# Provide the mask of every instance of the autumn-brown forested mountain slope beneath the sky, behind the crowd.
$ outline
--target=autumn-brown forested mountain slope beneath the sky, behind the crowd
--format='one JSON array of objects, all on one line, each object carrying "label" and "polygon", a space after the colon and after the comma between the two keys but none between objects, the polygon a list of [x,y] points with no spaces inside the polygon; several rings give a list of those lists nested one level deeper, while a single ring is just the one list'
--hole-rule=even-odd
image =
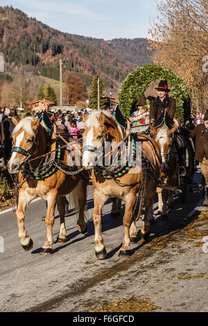
[{"label": "autumn-brown forested mountain slope beneath the sky, behind the crowd", "polygon": [[130,71],[150,62],[146,51],[144,39],[104,41],[71,35],[21,10],[0,7],[0,52],[8,71],[13,65],[31,65],[39,74],[58,79],[61,58],[63,72],[75,71],[88,81],[99,73],[108,87],[118,87]]}]

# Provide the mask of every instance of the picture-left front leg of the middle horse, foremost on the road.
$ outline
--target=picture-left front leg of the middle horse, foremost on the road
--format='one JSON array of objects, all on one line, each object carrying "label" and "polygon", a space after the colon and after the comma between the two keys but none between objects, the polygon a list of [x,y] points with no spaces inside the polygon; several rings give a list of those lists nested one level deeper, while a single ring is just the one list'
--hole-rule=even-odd
[{"label": "picture-left front leg of the middle horse, foremost on the road", "polygon": [[99,194],[96,189],[94,190],[94,212],[93,212],[93,223],[94,223],[94,243],[95,243],[95,253],[98,259],[104,259],[106,256],[106,249],[103,242],[102,234],[101,234],[101,221],[102,221],[102,210],[105,202],[107,200],[107,196]]}]

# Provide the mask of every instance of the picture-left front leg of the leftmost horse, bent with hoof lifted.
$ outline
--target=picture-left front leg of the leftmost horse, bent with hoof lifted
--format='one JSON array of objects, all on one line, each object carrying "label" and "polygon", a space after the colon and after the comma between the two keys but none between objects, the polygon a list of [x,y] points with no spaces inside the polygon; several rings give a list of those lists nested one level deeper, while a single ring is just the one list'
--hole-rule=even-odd
[{"label": "picture-left front leg of the leftmost horse, bent with hoof lifted", "polygon": [[26,251],[31,250],[33,248],[33,240],[31,239],[31,237],[28,236],[24,228],[25,210],[26,207],[28,207],[28,204],[34,198],[37,198],[37,195],[28,194],[26,191],[24,191],[24,189],[19,190],[16,218],[17,218],[17,224],[19,228],[19,238],[20,238],[21,246]]}]

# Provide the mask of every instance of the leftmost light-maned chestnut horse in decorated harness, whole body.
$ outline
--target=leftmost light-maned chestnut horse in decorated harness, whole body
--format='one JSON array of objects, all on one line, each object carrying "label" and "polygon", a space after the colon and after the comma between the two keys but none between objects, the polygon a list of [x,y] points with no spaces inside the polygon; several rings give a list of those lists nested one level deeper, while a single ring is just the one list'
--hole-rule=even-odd
[{"label": "leftmost light-maned chestnut horse in decorated harness, whole body", "polygon": [[[13,147],[12,155],[8,161],[8,171],[10,173],[17,173],[17,181],[19,183],[17,210],[15,214],[21,246],[26,251],[33,248],[33,240],[27,234],[24,227],[25,211],[28,204],[31,203],[31,200],[40,197],[46,200],[47,207],[45,218],[47,234],[40,254],[50,255],[53,252],[52,232],[56,204],[60,214],[58,242],[64,243],[66,241],[64,195],[70,193],[72,195],[71,197],[76,199],[78,205],[78,230],[82,233],[85,233],[87,230],[85,205],[87,202],[88,178],[85,173],[86,171],[84,171],[85,178],[79,178],[77,174],[73,175],[70,172],[66,174],[60,171],[57,164],[55,166],[49,164],[48,166],[47,162],[50,162],[51,155],[54,155],[54,153],[49,155],[49,160],[47,161],[45,155],[47,153],[46,130],[41,126],[38,118],[26,117],[22,120],[13,118],[12,121],[15,123],[15,128],[12,132]],[[69,163],[69,154],[72,153],[72,150],[68,153],[65,148],[61,148],[59,151],[55,151],[55,153],[55,160],[61,160],[60,162],[66,165],[67,162]],[[43,157],[44,163],[42,164]],[[51,162],[55,164],[54,160]],[[29,164],[30,171],[37,171],[40,166],[42,169],[45,169],[44,166],[48,166],[48,171],[42,177],[34,177],[34,175],[30,174],[24,175],[26,164]]]}]

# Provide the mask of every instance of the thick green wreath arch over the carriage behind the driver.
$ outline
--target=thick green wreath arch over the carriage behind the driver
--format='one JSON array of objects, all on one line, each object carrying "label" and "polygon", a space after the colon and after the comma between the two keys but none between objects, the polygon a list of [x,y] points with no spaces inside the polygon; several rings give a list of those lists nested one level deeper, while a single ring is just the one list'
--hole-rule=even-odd
[{"label": "thick green wreath arch over the carriage behind the driver", "polygon": [[131,110],[137,110],[137,103],[144,96],[148,85],[159,78],[168,81],[172,97],[176,101],[175,117],[183,123],[190,117],[190,96],[184,81],[173,71],[156,65],[138,67],[128,74],[119,92],[119,107],[124,117],[129,117]]}]

